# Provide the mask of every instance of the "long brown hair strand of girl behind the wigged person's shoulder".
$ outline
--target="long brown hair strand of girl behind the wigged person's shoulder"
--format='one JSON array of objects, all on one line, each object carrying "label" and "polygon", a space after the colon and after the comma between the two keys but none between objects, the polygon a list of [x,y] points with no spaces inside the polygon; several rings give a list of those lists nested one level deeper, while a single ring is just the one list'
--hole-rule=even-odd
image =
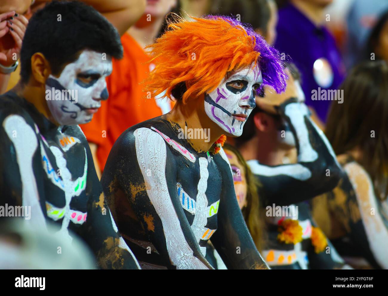
[{"label": "long brown hair strand of girl behind the wigged person's shoulder", "polygon": [[266,231],[265,221],[263,219],[264,210],[260,204],[258,194],[258,187],[260,187],[261,184],[258,179],[256,179],[256,177],[253,175],[253,173],[248,167],[248,164],[236,148],[227,143],[223,145],[223,148],[234,153],[237,156],[237,159],[241,163],[242,167],[244,168],[244,174],[247,184],[247,205],[246,207],[242,208],[241,212],[248,227],[248,230],[251,233],[256,248],[259,251],[262,251],[265,245]]}]

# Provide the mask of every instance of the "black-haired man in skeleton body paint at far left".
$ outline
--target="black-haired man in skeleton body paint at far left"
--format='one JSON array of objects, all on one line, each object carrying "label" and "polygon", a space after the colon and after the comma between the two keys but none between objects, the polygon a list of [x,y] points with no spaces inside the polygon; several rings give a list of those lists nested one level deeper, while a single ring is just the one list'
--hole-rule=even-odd
[{"label": "black-haired man in skeleton body paint at far left", "polygon": [[[70,44],[64,47],[63,38]],[[80,236],[100,268],[137,269],[77,126],[107,99],[112,56],[122,56],[120,37],[92,7],[52,2],[33,15],[21,50],[22,81],[0,96],[0,201],[30,207],[29,227],[55,223],[55,236]]]}]

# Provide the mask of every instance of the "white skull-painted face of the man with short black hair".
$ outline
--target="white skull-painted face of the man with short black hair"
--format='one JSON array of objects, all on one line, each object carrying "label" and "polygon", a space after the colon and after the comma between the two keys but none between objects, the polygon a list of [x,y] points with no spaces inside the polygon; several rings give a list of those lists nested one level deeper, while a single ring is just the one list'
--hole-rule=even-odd
[{"label": "white skull-painted face of the man with short black hair", "polygon": [[60,125],[90,122],[101,107],[100,101],[108,98],[105,77],[111,72],[110,59],[84,50],[58,78],[50,75],[46,80],[46,102],[54,119]]}]

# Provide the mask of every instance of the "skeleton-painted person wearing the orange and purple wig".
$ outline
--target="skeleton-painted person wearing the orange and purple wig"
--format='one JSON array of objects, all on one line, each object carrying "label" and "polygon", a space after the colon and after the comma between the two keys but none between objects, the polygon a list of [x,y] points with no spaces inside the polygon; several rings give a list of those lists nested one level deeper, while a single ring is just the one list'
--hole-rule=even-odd
[{"label": "skeleton-painted person wearing the orange and purple wig", "polygon": [[[262,83],[284,89],[279,53],[228,17],[178,19],[169,28],[151,46],[156,68],[147,87],[177,103],[121,134],[102,174],[119,231],[142,268],[211,269],[209,239],[228,268],[267,268],[225,153],[212,143],[242,133]],[[210,138],[182,138],[183,128],[209,129]]]}]

